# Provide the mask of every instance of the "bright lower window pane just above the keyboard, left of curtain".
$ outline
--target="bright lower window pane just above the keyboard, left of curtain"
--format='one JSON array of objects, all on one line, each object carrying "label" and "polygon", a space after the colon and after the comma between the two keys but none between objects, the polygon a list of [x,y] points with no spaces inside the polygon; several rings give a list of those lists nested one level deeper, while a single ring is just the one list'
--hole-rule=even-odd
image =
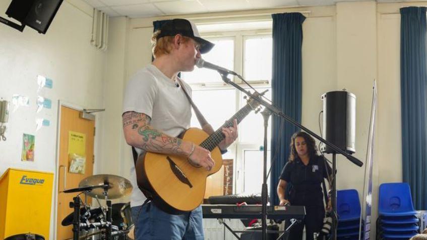
[{"label": "bright lower window pane just above the keyboard, left of curtain", "polygon": [[[245,150],[243,157],[243,171],[245,173],[243,193],[261,193],[264,175],[264,151]],[[270,151],[267,151],[267,173],[270,169],[270,158]],[[267,179],[267,184],[269,183],[270,177]]]}]

